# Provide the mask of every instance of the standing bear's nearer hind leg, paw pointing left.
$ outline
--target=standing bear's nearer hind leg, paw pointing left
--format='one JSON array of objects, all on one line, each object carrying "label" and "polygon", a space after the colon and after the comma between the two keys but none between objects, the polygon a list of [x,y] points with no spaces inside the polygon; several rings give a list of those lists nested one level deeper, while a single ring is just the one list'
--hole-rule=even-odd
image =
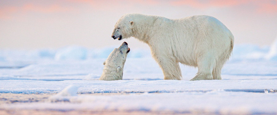
[{"label": "standing bear's nearer hind leg, paw pointing left", "polygon": [[213,79],[212,71],[213,67],[215,66],[215,59],[211,59],[209,56],[206,56],[206,58],[200,58],[197,62],[197,65],[198,72],[190,81]]}]

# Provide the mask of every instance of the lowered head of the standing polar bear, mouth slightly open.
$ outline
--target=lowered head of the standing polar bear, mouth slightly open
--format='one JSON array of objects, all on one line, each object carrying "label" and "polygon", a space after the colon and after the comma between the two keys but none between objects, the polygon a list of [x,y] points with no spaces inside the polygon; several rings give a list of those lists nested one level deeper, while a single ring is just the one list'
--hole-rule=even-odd
[{"label": "lowered head of the standing polar bear, mouth slightly open", "polygon": [[130,18],[130,14],[123,15],[114,25],[112,38],[122,40],[132,36],[132,28],[134,21]]}]

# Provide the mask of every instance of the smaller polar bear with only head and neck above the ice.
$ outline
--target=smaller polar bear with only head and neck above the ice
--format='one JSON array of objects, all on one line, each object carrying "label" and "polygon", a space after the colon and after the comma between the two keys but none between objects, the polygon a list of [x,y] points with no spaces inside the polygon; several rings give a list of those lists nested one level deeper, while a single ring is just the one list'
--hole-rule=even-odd
[{"label": "smaller polar bear with only head and neck above the ice", "polygon": [[129,52],[130,48],[128,48],[126,42],[123,42],[119,48],[114,48],[114,51],[110,53],[103,63],[105,66],[99,80],[122,80],[123,67]]}]

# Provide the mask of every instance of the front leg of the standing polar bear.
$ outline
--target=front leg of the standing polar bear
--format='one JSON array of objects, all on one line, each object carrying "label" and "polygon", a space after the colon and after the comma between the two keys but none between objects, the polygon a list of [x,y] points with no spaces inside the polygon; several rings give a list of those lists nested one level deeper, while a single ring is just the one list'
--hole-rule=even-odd
[{"label": "front leg of the standing polar bear", "polygon": [[165,80],[182,80],[182,72],[179,62],[169,58],[156,58],[159,66],[162,68]]}]

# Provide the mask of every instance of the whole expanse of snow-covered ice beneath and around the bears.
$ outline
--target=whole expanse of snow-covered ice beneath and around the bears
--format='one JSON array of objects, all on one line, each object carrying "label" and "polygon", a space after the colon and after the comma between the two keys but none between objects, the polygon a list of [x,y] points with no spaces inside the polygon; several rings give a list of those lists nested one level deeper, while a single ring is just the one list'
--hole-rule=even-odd
[{"label": "whole expanse of snow-covered ice beneath and around the bears", "polygon": [[[277,114],[276,44],[237,45],[222,70],[223,80],[201,81],[188,81],[197,68],[182,64],[183,80],[163,80],[147,49],[131,49],[118,81],[98,81],[114,47],[0,50],[0,111]],[[51,96],[6,103],[4,93]]]}]

